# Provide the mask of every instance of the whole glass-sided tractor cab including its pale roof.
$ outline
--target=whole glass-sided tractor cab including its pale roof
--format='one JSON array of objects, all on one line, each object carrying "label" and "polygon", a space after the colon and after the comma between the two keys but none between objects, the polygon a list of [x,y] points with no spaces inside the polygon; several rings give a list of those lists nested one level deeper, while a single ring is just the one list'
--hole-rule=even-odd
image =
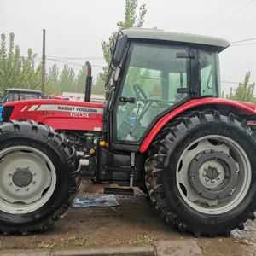
[{"label": "whole glass-sided tractor cab including its pale roof", "polygon": [[110,144],[136,148],[166,113],[191,99],[219,97],[218,53],[229,45],[157,29],[120,31],[106,83]]}]

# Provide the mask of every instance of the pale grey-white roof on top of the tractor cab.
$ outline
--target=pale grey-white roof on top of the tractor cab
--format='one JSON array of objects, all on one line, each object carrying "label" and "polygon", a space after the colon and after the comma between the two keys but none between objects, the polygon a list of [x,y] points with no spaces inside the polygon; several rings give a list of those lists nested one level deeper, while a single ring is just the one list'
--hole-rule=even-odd
[{"label": "pale grey-white roof on top of the tractor cab", "polygon": [[160,29],[147,29],[135,27],[124,29],[122,30],[122,32],[125,35],[127,35],[128,38],[162,40],[216,46],[218,47],[218,52],[221,52],[222,50],[230,46],[230,43],[223,38],[214,38],[182,32],[166,32]]}]

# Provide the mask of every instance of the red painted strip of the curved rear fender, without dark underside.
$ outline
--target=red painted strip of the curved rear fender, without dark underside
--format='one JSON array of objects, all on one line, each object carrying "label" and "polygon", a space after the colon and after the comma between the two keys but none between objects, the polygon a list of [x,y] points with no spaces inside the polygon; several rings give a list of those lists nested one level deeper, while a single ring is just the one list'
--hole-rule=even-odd
[{"label": "red painted strip of the curved rear fender, without dark underside", "polygon": [[171,113],[167,113],[166,116],[162,117],[156,125],[154,125],[153,129],[148,133],[148,136],[143,141],[140,152],[145,152],[149,146],[149,144],[153,141],[154,137],[158,134],[158,132],[169,122],[171,119],[175,118],[179,113],[183,113],[184,111],[188,110],[189,108],[195,108],[196,106],[201,105],[226,105],[227,108],[229,107],[236,107],[241,110],[242,113],[248,114],[256,114],[255,105],[250,102],[236,102],[230,101],[224,98],[205,98],[205,99],[196,99],[186,102],[179,108],[174,109]]}]

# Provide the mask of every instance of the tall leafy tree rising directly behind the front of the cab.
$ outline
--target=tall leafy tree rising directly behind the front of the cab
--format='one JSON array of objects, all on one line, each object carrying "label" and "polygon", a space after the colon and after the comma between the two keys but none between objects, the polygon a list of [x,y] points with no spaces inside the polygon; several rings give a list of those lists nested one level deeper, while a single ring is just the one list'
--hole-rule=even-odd
[{"label": "tall leafy tree rising directly behind the front of the cab", "polygon": [[113,44],[113,39],[121,29],[127,29],[131,27],[142,27],[145,15],[147,14],[146,4],[143,4],[139,7],[139,14],[137,17],[137,0],[125,0],[125,20],[119,21],[117,23],[118,30],[115,32],[112,32],[111,36],[108,38],[108,42],[102,40],[102,51],[104,55],[104,59],[107,63],[106,67],[103,67],[103,73],[100,73],[100,77],[103,81],[106,80],[107,74],[108,74],[108,66],[110,64],[110,52],[109,49],[111,45]]}]

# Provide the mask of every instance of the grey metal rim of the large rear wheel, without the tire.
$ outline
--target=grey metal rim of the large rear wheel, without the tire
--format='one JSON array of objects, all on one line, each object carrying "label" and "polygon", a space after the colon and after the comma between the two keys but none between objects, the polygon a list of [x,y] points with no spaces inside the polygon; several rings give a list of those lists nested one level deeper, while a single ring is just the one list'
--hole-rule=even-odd
[{"label": "grey metal rim of the large rear wheel, without the tire", "polygon": [[198,212],[222,214],[241,203],[251,184],[250,160],[230,137],[211,135],[190,143],[177,162],[177,188]]}]

